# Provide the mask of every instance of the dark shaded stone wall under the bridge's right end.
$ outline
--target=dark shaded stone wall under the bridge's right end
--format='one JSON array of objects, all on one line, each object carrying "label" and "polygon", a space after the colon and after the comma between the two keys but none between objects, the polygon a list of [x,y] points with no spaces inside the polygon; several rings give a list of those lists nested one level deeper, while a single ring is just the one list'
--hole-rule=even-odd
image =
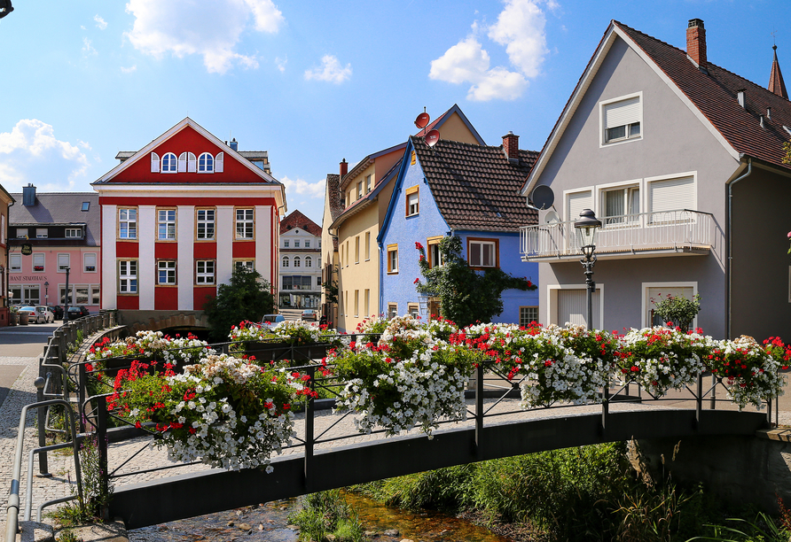
[{"label": "dark shaded stone wall under the bridge's right end", "polygon": [[751,503],[778,513],[777,497],[791,506],[791,430],[755,437],[686,437],[630,443],[634,468],[653,480],[702,482],[734,505]]}]

